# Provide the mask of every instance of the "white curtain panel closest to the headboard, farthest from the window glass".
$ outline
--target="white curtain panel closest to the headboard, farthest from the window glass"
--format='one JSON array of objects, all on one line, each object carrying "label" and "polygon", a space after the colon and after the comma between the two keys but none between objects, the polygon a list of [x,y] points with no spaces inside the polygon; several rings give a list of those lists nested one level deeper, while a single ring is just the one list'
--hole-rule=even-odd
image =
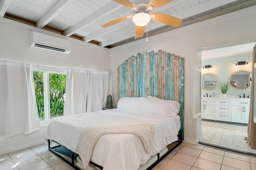
[{"label": "white curtain panel closest to the headboard, farthest from the window glass", "polygon": [[109,72],[88,71],[86,112],[102,110],[107,103]]}]

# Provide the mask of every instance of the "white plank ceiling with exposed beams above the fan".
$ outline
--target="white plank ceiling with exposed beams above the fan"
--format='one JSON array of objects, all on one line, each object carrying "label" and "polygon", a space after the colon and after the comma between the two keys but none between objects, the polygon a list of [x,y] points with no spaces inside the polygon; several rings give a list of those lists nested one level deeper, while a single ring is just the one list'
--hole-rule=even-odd
[{"label": "white plank ceiling with exposed beams above the fan", "polygon": [[[130,1],[134,4],[150,2]],[[173,0],[153,12],[183,20],[180,25],[182,27],[253,5],[256,5],[256,0]],[[107,48],[136,41],[132,18],[107,28],[101,27],[129,14],[129,8],[112,0],[0,0],[0,17],[53,30]],[[147,27],[148,36],[179,28],[154,20],[150,20]]]}]

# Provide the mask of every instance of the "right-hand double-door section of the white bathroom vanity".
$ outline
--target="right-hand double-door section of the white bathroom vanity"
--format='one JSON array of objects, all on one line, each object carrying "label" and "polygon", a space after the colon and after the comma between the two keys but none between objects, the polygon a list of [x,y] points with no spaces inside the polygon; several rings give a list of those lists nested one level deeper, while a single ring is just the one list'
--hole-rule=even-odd
[{"label": "right-hand double-door section of the white bathroom vanity", "polygon": [[232,101],[232,122],[248,123],[250,100]]}]

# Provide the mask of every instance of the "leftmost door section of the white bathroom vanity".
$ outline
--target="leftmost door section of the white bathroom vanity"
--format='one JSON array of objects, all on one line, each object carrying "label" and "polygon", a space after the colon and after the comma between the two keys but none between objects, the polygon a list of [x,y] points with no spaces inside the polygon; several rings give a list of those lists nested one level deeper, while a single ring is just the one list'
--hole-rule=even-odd
[{"label": "leftmost door section of the white bathroom vanity", "polygon": [[202,119],[215,120],[215,100],[202,99]]}]

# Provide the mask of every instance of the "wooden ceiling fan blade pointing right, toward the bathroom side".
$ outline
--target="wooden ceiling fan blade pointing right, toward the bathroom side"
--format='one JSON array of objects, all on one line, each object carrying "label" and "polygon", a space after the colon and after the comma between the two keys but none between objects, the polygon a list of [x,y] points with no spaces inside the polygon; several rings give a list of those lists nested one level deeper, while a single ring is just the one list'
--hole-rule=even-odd
[{"label": "wooden ceiling fan blade pointing right, toward the bathroom side", "polygon": [[174,26],[174,27],[178,27],[183,22],[183,20],[180,20],[176,17],[169,16],[169,15],[166,15],[166,14],[160,14],[160,13],[155,13],[155,12],[152,12],[151,14],[156,15],[155,18],[151,17],[152,20],[165,23],[166,25],[171,25],[171,26]]}]

